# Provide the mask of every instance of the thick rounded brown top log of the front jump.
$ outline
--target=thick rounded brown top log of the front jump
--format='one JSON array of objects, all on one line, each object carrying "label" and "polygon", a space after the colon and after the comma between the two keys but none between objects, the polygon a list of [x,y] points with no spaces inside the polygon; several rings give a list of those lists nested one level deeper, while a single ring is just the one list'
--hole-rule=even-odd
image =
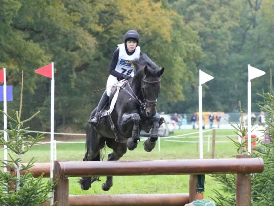
[{"label": "thick rounded brown top log of the front jump", "polygon": [[56,175],[62,177],[186,175],[218,173],[260,173],[262,159],[186,159],[152,161],[57,162]]}]

